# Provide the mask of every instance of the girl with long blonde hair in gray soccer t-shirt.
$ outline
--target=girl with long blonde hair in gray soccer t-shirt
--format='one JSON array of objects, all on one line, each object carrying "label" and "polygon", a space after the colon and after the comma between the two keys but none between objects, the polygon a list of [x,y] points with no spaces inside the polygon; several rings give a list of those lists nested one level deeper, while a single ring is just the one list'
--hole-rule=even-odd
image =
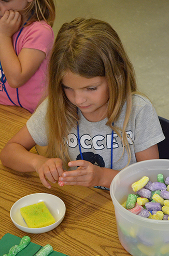
[{"label": "girl with long blonde hair in gray soccer t-shirt", "polygon": [[[159,158],[163,139],[116,31],[104,21],[77,18],[55,39],[49,96],[7,143],[1,160],[18,171],[36,171],[47,187],[59,180],[109,188],[125,166]],[[48,145],[46,156],[29,152],[35,144]]]}]

